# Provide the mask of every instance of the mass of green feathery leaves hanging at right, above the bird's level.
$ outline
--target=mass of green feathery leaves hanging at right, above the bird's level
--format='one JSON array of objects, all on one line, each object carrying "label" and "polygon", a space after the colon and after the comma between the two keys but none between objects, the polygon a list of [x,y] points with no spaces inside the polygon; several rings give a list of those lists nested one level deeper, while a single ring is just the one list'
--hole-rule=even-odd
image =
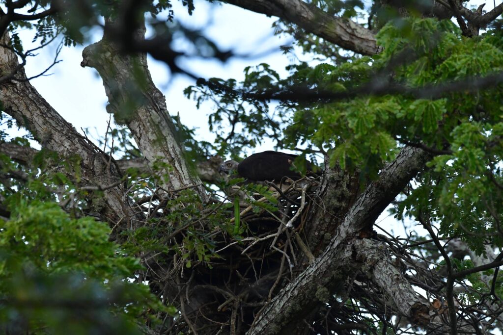
[{"label": "mass of green feathery leaves hanging at right, above the bird's level", "polygon": [[[431,163],[435,169],[417,181],[419,186],[400,204],[400,212],[403,206],[409,210],[414,207],[415,214],[430,212],[442,222],[446,236],[498,232],[503,210],[497,200],[503,184],[503,123],[499,117],[503,90],[497,83],[489,89],[471,87],[470,78],[503,70],[500,33],[466,38],[449,21],[409,19],[387,25],[377,38],[384,51],[373,57],[337,66],[301,64],[291,68],[292,75],[287,79],[280,79],[263,65],[253,72],[247,69],[240,85],[211,79],[188,88],[187,94],[196,94],[198,103],[205,99],[217,102],[210,117],[212,125],[221,127],[222,120],[232,120],[230,113],[234,113],[235,122],[251,138],[263,138],[269,129],[274,132],[269,137],[279,146],[304,145],[328,151],[331,164],[360,167],[370,178],[375,178],[383,162],[394,158],[404,144],[440,153]],[[459,80],[465,89],[442,92],[443,84]],[[282,118],[281,131],[277,121],[265,118],[268,100],[261,99],[265,91],[291,89],[302,94],[302,87],[306,92],[327,96],[326,92],[352,92],[375,82],[383,87],[382,94],[361,94],[351,99],[334,95],[319,102],[302,96],[280,100],[276,113]],[[418,99],[416,92],[431,85],[437,87],[439,97]],[[409,94],[386,93],[386,87],[396,86]],[[233,105],[241,109],[232,109]],[[236,147],[254,144],[239,141],[239,136],[230,132],[217,141],[225,140],[223,148],[232,144],[230,138],[236,138]],[[494,245],[501,243],[497,236],[497,241],[490,239]],[[469,240],[479,252],[489,242]]]}]

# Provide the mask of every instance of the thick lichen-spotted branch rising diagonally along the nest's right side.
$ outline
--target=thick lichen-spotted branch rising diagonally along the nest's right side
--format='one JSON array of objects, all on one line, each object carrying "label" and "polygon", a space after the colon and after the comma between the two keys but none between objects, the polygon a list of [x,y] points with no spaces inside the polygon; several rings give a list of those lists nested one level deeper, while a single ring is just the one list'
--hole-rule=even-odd
[{"label": "thick lichen-spotted branch rising diagonally along the nest's right side", "polygon": [[[383,168],[379,180],[372,182],[357,198],[325,251],[264,307],[248,333],[274,334],[287,323],[302,320],[301,315],[318,304],[316,292],[332,292],[338,283],[360,269],[365,261],[354,255],[359,233],[371,229],[379,214],[428,159],[429,155],[421,149],[403,148],[397,158]],[[403,312],[414,319],[418,316],[412,313],[419,310],[423,308]]]}]

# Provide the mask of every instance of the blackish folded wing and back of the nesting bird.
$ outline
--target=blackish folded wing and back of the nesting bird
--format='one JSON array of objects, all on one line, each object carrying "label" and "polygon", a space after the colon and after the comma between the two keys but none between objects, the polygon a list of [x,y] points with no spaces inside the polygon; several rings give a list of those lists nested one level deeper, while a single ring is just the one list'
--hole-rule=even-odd
[{"label": "blackish folded wing and back of the nesting bird", "polygon": [[239,176],[249,180],[276,180],[283,177],[299,179],[301,175],[293,171],[292,164],[297,155],[277,151],[264,151],[246,157],[237,166]]}]

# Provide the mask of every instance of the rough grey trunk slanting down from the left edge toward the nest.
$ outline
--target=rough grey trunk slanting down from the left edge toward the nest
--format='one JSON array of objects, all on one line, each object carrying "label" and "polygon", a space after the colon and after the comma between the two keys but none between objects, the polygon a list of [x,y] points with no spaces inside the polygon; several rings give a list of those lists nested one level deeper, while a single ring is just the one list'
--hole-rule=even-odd
[{"label": "rough grey trunk slanting down from the left edge toward the nest", "polygon": [[[2,37],[2,45],[9,45],[9,34]],[[10,48],[0,48],[0,72],[8,74],[19,65],[18,57]],[[20,80],[7,80],[0,84],[0,100],[5,112],[21,126],[28,129],[42,147],[61,156],[78,156],[81,159],[82,183],[107,186],[120,180],[121,175],[114,164],[94,144],[79,135],[38,91],[26,80],[23,68],[16,73]],[[144,215],[134,208],[126,196],[123,184],[107,188],[104,201],[95,201],[95,210],[102,219],[111,224],[122,222],[128,226],[143,221]]]}]

